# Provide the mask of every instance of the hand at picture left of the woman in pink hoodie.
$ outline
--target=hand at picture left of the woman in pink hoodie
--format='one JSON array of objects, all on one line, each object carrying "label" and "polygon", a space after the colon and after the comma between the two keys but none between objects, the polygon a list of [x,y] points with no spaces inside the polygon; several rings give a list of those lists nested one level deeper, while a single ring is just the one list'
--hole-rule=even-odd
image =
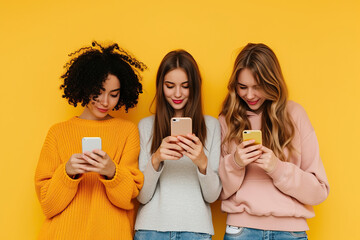
[{"label": "hand at picture left of the woman in pink hoodie", "polygon": [[235,161],[240,167],[245,167],[249,163],[256,161],[262,154],[262,145],[251,145],[255,140],[244,141],[236,147],[234,153]]}]

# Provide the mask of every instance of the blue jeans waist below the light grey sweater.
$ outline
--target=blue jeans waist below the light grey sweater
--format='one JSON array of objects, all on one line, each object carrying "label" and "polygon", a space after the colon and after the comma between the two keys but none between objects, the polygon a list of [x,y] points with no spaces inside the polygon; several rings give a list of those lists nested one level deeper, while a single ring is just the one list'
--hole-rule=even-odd
[{"label": "blue jeans waist below the light grey sweater", "polygon": [[211,240],[211,235],[196,232],[158,232],[152,230],[138,230],[134,240]]}]

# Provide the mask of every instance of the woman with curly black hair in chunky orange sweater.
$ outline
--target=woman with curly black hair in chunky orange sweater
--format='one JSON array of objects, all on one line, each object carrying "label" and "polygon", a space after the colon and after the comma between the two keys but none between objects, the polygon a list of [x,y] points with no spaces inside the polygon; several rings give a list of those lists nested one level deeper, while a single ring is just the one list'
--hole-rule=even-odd
[{"label": "woman with curly black hair in chunky orange sweater", "polygon": [[[84,111],[52,126],[35,174],[45,214],[39,239],[132,239],[134,203],[143,185],[136,125],[109,115],[137,104],[146,66],[113,44],[93,42],[65,65],[63,97]],[[102,149],[82,152],[83,137]]]}]

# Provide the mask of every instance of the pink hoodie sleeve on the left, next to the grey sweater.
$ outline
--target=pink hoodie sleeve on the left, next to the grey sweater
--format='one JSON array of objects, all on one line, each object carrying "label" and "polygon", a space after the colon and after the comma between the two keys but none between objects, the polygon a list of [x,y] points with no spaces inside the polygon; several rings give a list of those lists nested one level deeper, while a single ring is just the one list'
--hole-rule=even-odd
[{"label": "pink hoodie sleeve on the left, next to the grey sweater", "polygon": [[[221,126],[221,139],[222,142],[228,131],[225,117],[220,115],[219,122]],[[245,168],[236,164],[234,159],[234,153],[236,148],[231,149],[229,143],[222,144],[219,175],[222,182],[222,192],[220,198],[226,200],[235,194],[241,187],[245,177]]]}]

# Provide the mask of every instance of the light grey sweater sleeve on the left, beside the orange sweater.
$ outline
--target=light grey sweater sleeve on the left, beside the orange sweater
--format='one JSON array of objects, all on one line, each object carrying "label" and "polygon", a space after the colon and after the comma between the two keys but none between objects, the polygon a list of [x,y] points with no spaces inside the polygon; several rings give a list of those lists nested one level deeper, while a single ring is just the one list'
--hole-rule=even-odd
[{"label": "light grey sweater sleeve on the left, beside the orange sweater", "polygon": [[155,193],[156,185],[159,177],[163,171],[163,163],[160,164],[159,171],[156,171],[151,163],[151,131],[152,121],[151,118],[145,118],[139,122],[140,132],[140,155],[139,155],[139,168],[144,173],[144,186],[141,189],[138,201],[146,204],[151,200]]}]

